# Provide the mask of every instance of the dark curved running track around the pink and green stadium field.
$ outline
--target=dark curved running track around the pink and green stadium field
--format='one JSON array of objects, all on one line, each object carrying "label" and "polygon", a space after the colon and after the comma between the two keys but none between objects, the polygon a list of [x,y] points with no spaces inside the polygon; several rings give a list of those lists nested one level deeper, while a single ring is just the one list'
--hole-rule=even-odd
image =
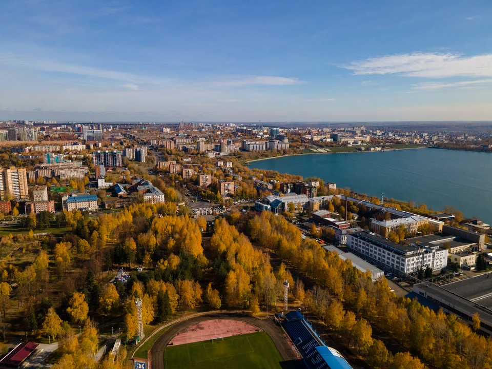
[{"label": "dark curved running track around the pink and green stadium field", "polygon": [[163,333],[162,336],[160,336],[152,346],[152,349],[150,351],[152,369],[164,369],[164,350],[166,349],[168,342],[179,331],[185,329],[189,325],[196,324],[204,320],[220,318],[240,320],[257,326],[259,329],[263,330],[270,336],[273,343],[277,347],[278,352],[282,356],[282,359],[286,361],[286,365],[282,366],[283,368],[294,369],[302,367],[302,364],[297,360],[294,352],[292,351],[291,346],[287,343],[285,335],[281,333],[273,320],[262,320],[251,315],[241,313],[217,313],[201,315],[199,317],[191,318],[190,320],[185,320],[171,326],[170,329]]}]

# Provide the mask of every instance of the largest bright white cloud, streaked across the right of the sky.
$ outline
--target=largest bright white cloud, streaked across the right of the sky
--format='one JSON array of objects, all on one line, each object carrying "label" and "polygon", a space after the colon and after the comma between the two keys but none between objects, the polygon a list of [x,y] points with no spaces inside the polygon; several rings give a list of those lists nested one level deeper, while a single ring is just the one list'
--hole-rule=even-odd
[{"label": "largest bright white cloud, streaked across the right of the sky", "polygon": [[408,77],[492,77],[492,54],[395,54],[353,61],[342,68],[356,75],[397,74]]}]

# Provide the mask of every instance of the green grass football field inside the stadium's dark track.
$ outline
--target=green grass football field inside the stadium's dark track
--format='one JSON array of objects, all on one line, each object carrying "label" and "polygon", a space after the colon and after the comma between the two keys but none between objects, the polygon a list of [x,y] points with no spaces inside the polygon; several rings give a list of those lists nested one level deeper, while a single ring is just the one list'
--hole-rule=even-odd
[{"label": "green grass football field inside the stadium's dark track", "polygon": [[168,346],[164,352],[166,369],[281,369],[280,356],[264,332]]}]

